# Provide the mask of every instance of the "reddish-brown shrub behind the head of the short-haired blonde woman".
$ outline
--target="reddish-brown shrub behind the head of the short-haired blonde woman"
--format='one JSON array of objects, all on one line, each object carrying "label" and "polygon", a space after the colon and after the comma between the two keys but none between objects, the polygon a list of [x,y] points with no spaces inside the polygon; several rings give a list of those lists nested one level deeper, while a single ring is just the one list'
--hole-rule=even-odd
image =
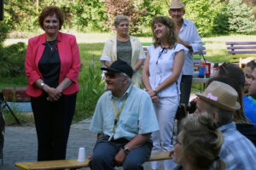
[{"label": "reddish-brown shrub behind the head of the short-haired blonde woman", "polygon": [[141,4],[136,6],[134,3],[134,0],[105,0],[104,5],[108,15],[106,26],[114,30],[114,17],[123,14],[130,19],[130,33],[141,32],[139,26],[143,25],[143,16],[148,14],[147,8],[140,8]]}]

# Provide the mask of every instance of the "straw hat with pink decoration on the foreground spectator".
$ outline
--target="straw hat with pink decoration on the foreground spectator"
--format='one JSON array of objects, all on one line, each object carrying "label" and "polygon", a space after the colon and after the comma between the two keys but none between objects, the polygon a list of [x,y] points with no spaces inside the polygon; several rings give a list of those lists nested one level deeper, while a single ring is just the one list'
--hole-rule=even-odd
[{"label": "straw hat with pink decoration on the foreground spectator", "polygon": [[224,82],[214,81],[205,89],[203,94],[196,94],[200,99],[227,111],[240,109],[237,102],[236,90]]}]

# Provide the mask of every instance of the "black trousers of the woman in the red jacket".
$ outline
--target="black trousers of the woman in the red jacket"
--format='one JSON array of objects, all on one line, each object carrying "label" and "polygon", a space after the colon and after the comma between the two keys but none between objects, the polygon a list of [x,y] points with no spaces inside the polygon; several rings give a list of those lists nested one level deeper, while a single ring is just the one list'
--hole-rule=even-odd
[{"label": "black trousers of the woman in the red jacket", "polygon": [[77,94],[63,95],[50,102],[43,93],[32,98],[32,111],[38,134],[38,161],[66,159],[67,139]]}]

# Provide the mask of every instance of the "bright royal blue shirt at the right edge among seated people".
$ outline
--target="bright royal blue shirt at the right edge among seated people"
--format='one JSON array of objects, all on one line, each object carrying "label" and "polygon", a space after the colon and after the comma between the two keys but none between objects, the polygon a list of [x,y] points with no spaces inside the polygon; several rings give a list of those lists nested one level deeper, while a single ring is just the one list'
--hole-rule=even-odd
[{"label": "bright royal blue shirt at the right edge among seated people", "polygon": [[242,97],[243,111],[245,116],[254,124],[256,127],[256,105],[253,104],[251,99],[245,95]]}]

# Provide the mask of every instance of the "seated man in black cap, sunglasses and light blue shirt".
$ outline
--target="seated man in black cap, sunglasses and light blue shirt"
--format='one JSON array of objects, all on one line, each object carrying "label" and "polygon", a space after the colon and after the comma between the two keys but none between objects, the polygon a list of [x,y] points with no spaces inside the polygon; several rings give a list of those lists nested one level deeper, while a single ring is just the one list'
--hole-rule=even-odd
[{"label": "seated man in black cap, sunglasses and light blue shirt", "polygon": [[159,130],[148,94],[131,85],[131,66],[116,60],[105,73],[107,92],[102,94],[90,124],[97,141],[90,161],[96,170],[143,169],[151,154],[152,132]]}]

